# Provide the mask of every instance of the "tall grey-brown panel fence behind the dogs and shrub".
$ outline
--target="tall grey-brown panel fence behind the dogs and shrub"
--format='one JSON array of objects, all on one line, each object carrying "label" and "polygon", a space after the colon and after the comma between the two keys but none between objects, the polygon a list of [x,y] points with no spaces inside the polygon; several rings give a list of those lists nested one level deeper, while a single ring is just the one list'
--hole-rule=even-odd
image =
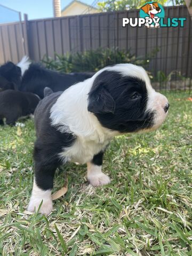
[{"label": "tall grey-brown panel fence behind the dogs and shrub", "polygon": [[[184,28],[122,27],[122,18],[139,17],[140,10],[39,19],[0,25],[0,64],[17,63],[23,55],[39,61],[44,55],[96,50],[130,50],[136,57],[151,57],[148,69],[157,75],[178,70],[192,76],[192,21],[186,6],[165,7],[165,17],[186,17]],[[24,38],[24,43],[23,43]]]}]

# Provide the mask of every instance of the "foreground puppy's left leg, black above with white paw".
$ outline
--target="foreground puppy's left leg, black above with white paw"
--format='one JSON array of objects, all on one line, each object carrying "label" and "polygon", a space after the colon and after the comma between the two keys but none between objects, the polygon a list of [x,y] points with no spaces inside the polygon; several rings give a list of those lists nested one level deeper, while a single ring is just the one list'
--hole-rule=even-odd
[{"label": "foreground puppy's left leg, black above with white paw", "polygon": [[[46,148],[46,146],[45,146]],[[46,149],[45,149],[46,150]],[[45,150],[35,148],[35,177],[32,195],[28,205],[28,211],[49,214],[52,211],[51,190],[53,188],[53,178],[59,162],[52,155],[47,155]],[[54,154],[54,153],[52,153]]]}]

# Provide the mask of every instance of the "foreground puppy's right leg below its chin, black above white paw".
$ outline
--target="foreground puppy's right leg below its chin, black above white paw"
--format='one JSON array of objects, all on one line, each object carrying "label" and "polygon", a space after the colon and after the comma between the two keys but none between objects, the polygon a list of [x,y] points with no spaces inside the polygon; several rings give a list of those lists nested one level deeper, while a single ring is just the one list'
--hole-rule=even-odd
[{"label": "foreground puppy's right leg below its chin, black above white paw", "polygon": [[92,186],[106,185],[110,178],[101,171],[103,152],[95,155],[91,162],[87,163],[87,180]]}]

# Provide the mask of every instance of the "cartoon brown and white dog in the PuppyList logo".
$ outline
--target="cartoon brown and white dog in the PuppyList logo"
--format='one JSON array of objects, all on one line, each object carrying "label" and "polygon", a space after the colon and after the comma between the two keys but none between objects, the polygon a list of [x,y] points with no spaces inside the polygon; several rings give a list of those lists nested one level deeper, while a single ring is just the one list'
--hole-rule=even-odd
[{"label": "cartoon brown and white dog in the PuppyList logo", "polygon": [[[151,19],[157,19],[158,17],[155,15],[159,12],[161,12],[161,8],[158,6],[158,3],[148,3],[148,4],[145,4],[141,7],[141,10],[143,10],[145,13],[147,13],[149,15],[149,17],[146,17],[146,20],[151,18]],[[159,23],[156,22],[155,25],[154,24],[150,24],[148,22],[146,22],[145,26],[147,28],[149,27],[159,27]]]}]

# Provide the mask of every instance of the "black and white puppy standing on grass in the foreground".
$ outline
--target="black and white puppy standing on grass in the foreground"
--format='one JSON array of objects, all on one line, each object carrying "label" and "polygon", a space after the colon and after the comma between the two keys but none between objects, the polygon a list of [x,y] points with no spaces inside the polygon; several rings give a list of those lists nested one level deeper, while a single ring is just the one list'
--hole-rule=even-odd
[{"label": "black and white puppy standing on grass in the foreground", "polygon": [[35,178],[28,211],[37,210],[42,201],[39,212],[52,211],[53,177],[63,163],[87,163],[93,186],[109,183],[101,166],[110,140],[117,134],[157,129],[168,109],[166,97],[151,87],[146,71],[132,64],[103,68],[45,97],[35,110]]}]

